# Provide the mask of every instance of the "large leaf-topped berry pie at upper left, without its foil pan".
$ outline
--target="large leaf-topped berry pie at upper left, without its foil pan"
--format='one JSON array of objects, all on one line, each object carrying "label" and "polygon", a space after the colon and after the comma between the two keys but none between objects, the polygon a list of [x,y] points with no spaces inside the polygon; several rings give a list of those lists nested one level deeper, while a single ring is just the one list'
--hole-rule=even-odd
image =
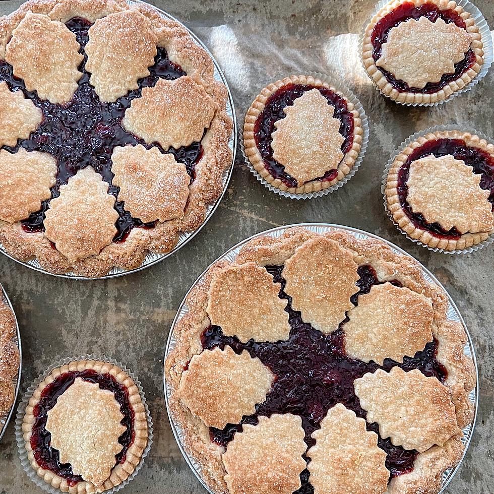
[{"label": "large leaf-topped berry pie at upper left, without its foil pan", "polygon": [[146,4],[30,0],[0,18],[4,249],[87,277],[169,252],[223,191],[227,97]]}]

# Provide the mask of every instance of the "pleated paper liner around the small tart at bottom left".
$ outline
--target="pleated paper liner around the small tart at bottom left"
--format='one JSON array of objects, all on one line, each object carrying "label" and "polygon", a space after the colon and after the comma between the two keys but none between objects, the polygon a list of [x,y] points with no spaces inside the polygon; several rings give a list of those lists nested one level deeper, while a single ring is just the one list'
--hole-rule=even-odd
[{"label": "pleated paper liner around the small tart at bottom left", "polygon": [[144,405],[144,410],[146,412],[146,418],[148,421],[148,444],[146,448],[143,451],[143,454],[141,456],[141,460],[139,461],[139,464],[136,466],[135,470],[132,472],[129,477],[127,477],[125,480],[123,480],[121,483],[116,485],[115,487],[103,491],[104,494],[111,494],[112,492],[116,492],[117,490],[120,490],[121,488],[125,487],[139,472],[141,469],[144,459],[149,453],[149,450],[151,449],[151,445],[153,444],[153,421],[151,420],[151,414],[149,413],[149,408],[146,403],[146,398],[144,397],[144,391],[141,386],[141,382],[139,379],[137,379],[136,375],[131,372],[125,365],[122,365],[120,362],[113,360],[112,358],[108,357],[103,357],[99,355],[81,355],[79,357],[66,357],[64,359],[60,359],[57,362],[51,364],[43,374],[40,374],[29,386],[27,391],[24,393],[24,396],[22,397],[22,401],[19,404],[19,408],[17,409],[17,417],[16,417],[16,441],[17,441],[17,449],[19,451],[19,457],[21,459],[21,465],[26,472],[27,476],[38,486],[41,487],[43,490],[46,490],[47,492],[51,492],[51,494],[60,494],[62,492],[60,489],[57,489],[53,487],[51,484],[47,483],[45,480],[43,480],[37,473],[36,471],[31,467],[31,463],[28,459],[27,456],[27,451],[25,444],[26,442],[24,441],[23,438],[23,431],[22,431],[22,422],[24,420],[24,413],[26,411],[26,406],[29,403],[29,400],[31,396],[33,395],[34,391],[37,389],[39,384],[44,381],[44,379],[51,373],[51,371],[57,367],[61,367],[62,365],[66,365],[70,362],[74,362],[77,360],[100,360],[102,362],[107,362],[111,363],[112,365],[116,365],[117,367],[121,368],[123,371],[125,371],[131,379],[134,381],[134,384],[137,386],[139,389],[139,393],[141,395],[141,400]]}]

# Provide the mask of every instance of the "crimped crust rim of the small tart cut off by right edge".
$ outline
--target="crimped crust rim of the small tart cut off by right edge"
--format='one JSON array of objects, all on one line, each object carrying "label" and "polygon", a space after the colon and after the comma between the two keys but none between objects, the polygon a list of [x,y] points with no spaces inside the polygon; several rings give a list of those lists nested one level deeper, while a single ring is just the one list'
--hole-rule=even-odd
[{"label": "crimped crust rim of the small tart cut off by right edge", "polygon": [[494,145],[481,139],[475,134],[470,132],[461,131],[436,131],[429,132],[425,136],[417,138],[417,140],[411,142],[405,149],[395,156],[393,163],[388,171],[386,178],[386,186],[384,194],[386,197],[387,209],[393,217],[393,221],[397,226],[403,230],[410,238],[418,240],[420,243],[430,247],[443,249],[445,251],[463,250],[476,245],[489,237],[490,232],[477,232],[477,233],[463,233],[457,239],[440,238],[432,235],[427,230],[424,230],[418,226],[415,226],[408,216],[403,211],[400,198],[398,196],[398,172],[403,164],[407,161],[410,154],[413,151],[423,146],[427,141],[433,141],[436,139],[461,139],[468,147],[478,148],[482,151],[489,153],[494,157]]}]

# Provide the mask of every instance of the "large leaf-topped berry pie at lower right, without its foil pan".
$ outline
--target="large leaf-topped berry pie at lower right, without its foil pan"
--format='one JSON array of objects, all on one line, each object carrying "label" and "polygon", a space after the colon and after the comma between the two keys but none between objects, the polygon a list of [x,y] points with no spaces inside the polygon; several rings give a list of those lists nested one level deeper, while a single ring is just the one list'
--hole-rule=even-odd
[{"label": "large leaf-topped berry pie at lower right, without its foil pan", "polygon": [[475,386],[465,331],[444,290],[385,242],[257,236],[186,304],[165,361],[169,410],[213,492],[437,494],[461,459]]}]

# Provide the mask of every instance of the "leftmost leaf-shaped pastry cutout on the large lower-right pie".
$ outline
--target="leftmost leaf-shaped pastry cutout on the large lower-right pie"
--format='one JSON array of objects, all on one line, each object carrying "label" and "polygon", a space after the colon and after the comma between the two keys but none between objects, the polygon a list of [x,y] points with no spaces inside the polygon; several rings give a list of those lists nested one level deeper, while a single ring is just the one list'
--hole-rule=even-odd
[{"label": "leftmost leaf-shaped pastry cutout on the large lower-right pie", "polygon": [[208,427],[222,429],[253,414],[256,404],[266,399],[273,379],[269,368],[249,352],[237,355],[229,346],[216,347],[192,357],[178,395]]}]

